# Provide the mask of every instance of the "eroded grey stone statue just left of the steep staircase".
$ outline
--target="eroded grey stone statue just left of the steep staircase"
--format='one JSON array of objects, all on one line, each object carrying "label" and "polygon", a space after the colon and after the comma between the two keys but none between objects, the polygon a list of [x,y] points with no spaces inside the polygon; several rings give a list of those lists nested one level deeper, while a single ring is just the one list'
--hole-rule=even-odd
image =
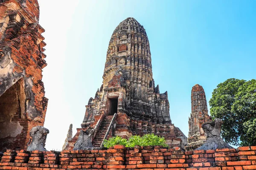
[{"label": "eroded grey stone statue just left of the steep staircase", "polygon": [[95,133],[93,127],[88,127],[87,130],[80,130],[80,135],[74,145],[73,150],[84,150],[84,148],[93,147],[92,137]]}]

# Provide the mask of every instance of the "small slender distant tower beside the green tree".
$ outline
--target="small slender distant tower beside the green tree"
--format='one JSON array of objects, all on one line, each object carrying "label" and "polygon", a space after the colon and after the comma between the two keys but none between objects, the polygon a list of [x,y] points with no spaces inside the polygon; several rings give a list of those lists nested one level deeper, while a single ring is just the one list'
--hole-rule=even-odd
[{"label": "small slender distant tower beside the green tree", "polygon": [[189,138],[186,150],[195,150],[206,141],[202,124],[210,122],[204,88],[194,85],[191,91],[191,114],[189,117]]}]

